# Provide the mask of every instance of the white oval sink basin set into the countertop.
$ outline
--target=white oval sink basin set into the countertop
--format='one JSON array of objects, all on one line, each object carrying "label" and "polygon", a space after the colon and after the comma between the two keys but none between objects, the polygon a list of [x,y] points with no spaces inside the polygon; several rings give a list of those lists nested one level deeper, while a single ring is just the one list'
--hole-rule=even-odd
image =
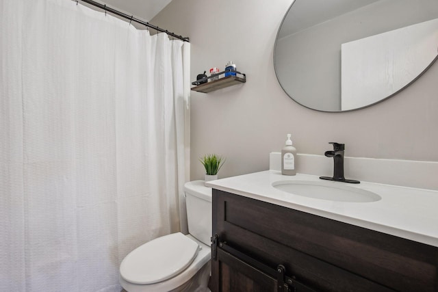
[{"label": "white oval sink basin set into the countertop", "polygon": [[376,202],[382,198],[371,191],[339,182],[277,181],[272,187],[296,196],[336,202]]}]

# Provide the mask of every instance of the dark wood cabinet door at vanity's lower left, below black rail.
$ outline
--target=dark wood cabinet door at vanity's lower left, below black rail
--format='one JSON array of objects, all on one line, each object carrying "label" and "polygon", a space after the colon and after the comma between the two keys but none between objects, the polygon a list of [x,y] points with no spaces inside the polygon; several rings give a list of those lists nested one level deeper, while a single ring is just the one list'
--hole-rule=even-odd
[{"label": "dark wood cabinet door at vanity's lower left, below black rail", "polygon": [[211,262],[211,291],[277,291],[274,278],[220,248],[217,251],[217,260]]}]

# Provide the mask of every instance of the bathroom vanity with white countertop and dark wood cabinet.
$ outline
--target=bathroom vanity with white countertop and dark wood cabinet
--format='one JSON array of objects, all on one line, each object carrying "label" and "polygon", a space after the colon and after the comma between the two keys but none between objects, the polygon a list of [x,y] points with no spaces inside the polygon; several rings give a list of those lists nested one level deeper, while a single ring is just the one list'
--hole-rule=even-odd
[{"label": "bathroom vanity with white countertop and dark wood cabinet", "polygon": [[362,182],[380,199],[348,202],[273,186],[303,182],[319,184],[274,171],[209,183],[212,291],[438,291],[438,191]]}]

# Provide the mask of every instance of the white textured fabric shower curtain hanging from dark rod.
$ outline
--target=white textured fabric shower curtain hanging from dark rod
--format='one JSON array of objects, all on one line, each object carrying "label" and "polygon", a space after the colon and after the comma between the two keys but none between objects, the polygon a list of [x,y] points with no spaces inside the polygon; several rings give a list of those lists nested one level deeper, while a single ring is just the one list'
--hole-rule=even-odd
[{"label": "white textured fabric shower curtain hanging from dark rod", "polygon": [[0,291],[119,292],[128,252],[185,231],[189,52],[74,1],[0,0]]}]

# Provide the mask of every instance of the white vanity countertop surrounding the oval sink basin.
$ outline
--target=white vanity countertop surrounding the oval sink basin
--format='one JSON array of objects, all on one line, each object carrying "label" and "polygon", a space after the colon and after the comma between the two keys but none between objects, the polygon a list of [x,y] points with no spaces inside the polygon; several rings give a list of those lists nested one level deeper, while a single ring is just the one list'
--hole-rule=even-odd
[{"label": "white vanity countertop surrounding the oval sink basin", "polygon": [[346,184],[382,197],[376,202],[335,202],[296,196],[272,187],[277,181],[322,181],[318,176],[266,170],[209,181],[214,189],[270,202],[340,222],[361,226],[438,247],[438,191],[380,183]]}]

